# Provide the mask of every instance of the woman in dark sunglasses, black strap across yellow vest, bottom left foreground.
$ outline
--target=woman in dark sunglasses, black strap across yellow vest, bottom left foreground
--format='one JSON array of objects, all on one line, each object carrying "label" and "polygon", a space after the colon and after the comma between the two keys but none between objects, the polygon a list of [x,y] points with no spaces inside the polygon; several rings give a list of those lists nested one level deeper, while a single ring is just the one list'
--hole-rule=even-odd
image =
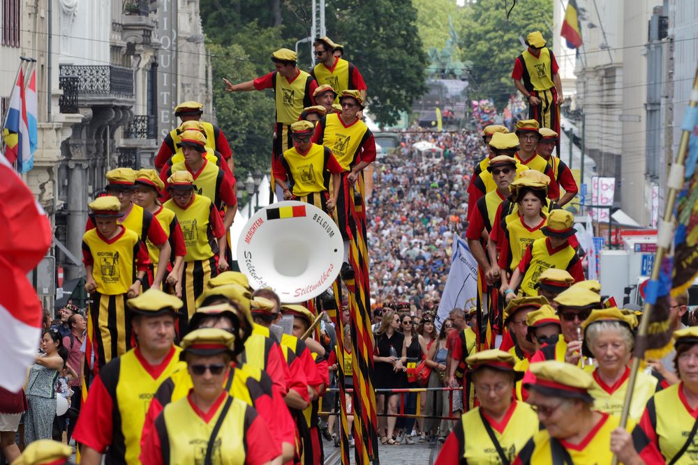
[{"label": "woman in dark sunglasses, black strap across yellow vest, bottom left foreground", "polygon": [[218,328],[198,329],[184,337],[181,348],[180,358],[186,362],[193,388],[186,397],[165,406],[154,427],[144,432],[140,461],[151,465],[272,464],[281,447],[267,422],[223,388],[235,335]]}]

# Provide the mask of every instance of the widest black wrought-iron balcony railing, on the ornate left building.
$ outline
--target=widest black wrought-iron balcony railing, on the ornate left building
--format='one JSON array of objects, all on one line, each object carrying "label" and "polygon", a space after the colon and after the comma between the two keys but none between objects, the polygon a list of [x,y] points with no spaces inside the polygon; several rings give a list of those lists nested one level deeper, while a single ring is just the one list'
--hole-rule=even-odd
[{"label": "widest black wrought-iron balcony railing, on the ornate left building", "polygon": [[133,70],[120,66],[61,66],[61,77],[76,77],[81,94],[133,96]]}]

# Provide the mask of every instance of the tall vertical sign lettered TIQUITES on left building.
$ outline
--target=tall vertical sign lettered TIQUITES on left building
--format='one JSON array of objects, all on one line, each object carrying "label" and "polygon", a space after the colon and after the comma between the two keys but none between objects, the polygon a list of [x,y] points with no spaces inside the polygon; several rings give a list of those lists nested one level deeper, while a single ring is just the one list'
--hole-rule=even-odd
[{"label": "tall vertical sign lettered TIQUITES on left building", "polygon": [[158,134],[168,135],[177,125],[172,109],[177,105],[177,1],[158,2]]}]

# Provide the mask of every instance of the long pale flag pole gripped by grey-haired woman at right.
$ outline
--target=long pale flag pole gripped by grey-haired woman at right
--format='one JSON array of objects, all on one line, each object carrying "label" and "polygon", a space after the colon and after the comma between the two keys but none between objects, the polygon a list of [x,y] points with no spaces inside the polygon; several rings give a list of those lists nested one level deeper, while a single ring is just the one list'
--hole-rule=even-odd
[{"label": "long pale flag pole gripped by grey-haired woman at right", "polygon": [[[693,91],[691,93],[690,102],[688,103],[689,108],[698,107],[698,68],[696,69],[695,76],[693,77]],[[692,130],[692,128],[691,128]],[[683,172],[684,172],[684,162],[686,159],[686,153],[688,152],[688,139],[691,135],[691,130],[686,130],[684,128],[681,133],[681,144],[678,146],[678,155],[676,157],[676,162],[671,167],[671,174],[676,171],[681,173],[681,181],[679,184],[678,178],[674,176],[669,176],[669,183],[667,187],[669,192],[667,192],[667,206],[664,208],[664,219],[660,224],[660,229],[658,231],[658,247],[657,256],[655,257],[654,265],[652,267],[651,280],[656,281],[659,279],[660,270],[662,268],[662,261],[666,257],[669,248],[671,248],[671,239],[674,237],[674,205],[676,204],[676,197],[678,192],[683,188]],[[676,171],[675,171],[676,170]],[[673,182],[672,182],[673,181]],[[663,233],[663,234],[662,234]],[[670,234],[671,233],[671,234]],[[654,300],[654,299],[652,299]],[[653,310],[655,303],[645,301],[644,308],[642,309],[642,319],[640,321],[640,326],[637,330],[637,339],[644,339],[647,335],[647,328],[649,326],[650,314]],[[623,402],[623,413],[621,413],[621,428],[625,428],[628,423],[628,416],[630,414],[630,402],[632,401],[632,391],[635,387],[635,380],[637,379],[637,372],[640,367],[640,357],[636,356],[632,360],[632,367],[630,369],[630,379],[628,379],[628,391],[625,392],[625,401]],[[614,457],[613,464],[618,464],[618,457]]]}]

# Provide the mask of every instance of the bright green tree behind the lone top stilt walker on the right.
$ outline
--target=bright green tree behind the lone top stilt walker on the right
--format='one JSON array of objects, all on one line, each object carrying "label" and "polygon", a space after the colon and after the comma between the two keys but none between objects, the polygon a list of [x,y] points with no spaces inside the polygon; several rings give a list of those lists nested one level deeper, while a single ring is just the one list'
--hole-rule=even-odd
[{"label": "bright green tree behind the lone top stilt walker on the right", "polygon": [[466,75],[470,95],[492,98],[501,109],[516,91],[511,78],[514,59],[526,48],[519,37],[526,38],[529,32],[538,30],[548,40],[548,47],[552,46],[547,24],[552,24],[553,5],[549,0],[519,1],[508,20],[511,2],[480,0],[468,8],[458,33],[463,61],[472,63]]}]

